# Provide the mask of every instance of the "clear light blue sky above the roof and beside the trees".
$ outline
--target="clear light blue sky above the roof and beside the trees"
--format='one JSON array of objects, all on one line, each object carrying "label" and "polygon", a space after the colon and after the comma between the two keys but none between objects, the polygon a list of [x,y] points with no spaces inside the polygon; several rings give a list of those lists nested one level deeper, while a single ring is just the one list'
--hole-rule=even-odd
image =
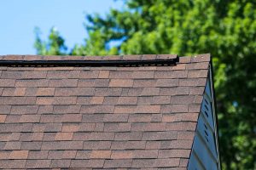
[{"label": "clear light blue sky above the roof and beside the trees", "polygon": [[84,14],[106,14],[109,8],[121,8],[121,0],[1,0],[0,2],[0,55],[36,54],[33,48],[34,28],[42,37],[55,26],[72,48],[83,43]]}]

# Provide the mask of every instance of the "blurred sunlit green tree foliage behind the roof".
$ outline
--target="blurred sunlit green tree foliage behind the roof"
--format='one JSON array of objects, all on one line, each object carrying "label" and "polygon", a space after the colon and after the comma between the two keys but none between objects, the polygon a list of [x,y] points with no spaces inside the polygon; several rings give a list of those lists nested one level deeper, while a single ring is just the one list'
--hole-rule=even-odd
[{"label": "blurred sunlit green tree foliage behind the roof", "polygon": [[[224,169],[256,168],[256,2],[130,0],[86,16],[89,37],[69,54],[202,54],[213,57]],[[65,54],[51,31],[38,54]],[[111,42],[119,42],[109,46]]]}]

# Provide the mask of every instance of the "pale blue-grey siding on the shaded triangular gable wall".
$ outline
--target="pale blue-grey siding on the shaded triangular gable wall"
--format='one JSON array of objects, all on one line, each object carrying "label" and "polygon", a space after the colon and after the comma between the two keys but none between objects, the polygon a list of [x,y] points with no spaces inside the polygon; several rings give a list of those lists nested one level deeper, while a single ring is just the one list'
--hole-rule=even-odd
[{"label": "pale blue-grey siding on the shaded triangular gable wall", "polygon": [[211,78],[212,77],[207,78],[207,86],[189,159],[188,169],[191,170],[218,170],[220,168]]}]

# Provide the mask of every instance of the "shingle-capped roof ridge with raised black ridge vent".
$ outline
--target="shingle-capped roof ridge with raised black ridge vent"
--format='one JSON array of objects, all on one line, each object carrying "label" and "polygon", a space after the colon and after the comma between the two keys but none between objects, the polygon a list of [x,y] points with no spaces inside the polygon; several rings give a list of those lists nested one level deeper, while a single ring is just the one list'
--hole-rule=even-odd
[{"label": "shingle-capped roof ridge with raised black ridge vent", "polygon": [[140,66],[176,65],[209,61],[210,54],[194,57],[177,57],[177,54],[137,54],[106,56],[60,56],[60,55],[2,55],[0,65],[4,66]]}]

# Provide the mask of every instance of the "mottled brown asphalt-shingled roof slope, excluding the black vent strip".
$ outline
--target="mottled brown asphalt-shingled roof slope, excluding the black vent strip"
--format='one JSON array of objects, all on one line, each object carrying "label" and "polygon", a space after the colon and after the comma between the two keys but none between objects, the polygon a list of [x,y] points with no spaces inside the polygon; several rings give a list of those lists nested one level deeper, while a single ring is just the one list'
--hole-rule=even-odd
[{"label": "mottled brown asphalt-shingled roof slope, excluding the black vent strip", "polygon": [[[155,60],[2,56],[2,61]],[[209,54],[175,65],[0,66],[0,167],[185,169]],[[3,63],[2,63],[3,64]]]}]

